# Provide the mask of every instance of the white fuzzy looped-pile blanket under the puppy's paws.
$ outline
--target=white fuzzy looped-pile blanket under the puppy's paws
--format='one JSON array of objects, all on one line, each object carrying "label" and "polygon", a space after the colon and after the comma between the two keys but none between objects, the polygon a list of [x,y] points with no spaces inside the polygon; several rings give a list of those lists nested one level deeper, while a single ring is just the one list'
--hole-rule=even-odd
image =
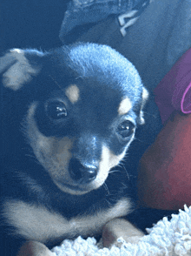
[{"label": "white fuzzy looped-pile blanket under the puppy's paws", "polygon": [[119,242],[122,246],[112,246],[111,249],[101,248],[94,238],[64,240],[61,246],[56,246],[52,252],[56,256],[187,256],[191,255],[191,206],[184,206],[184,211],[160,220],[154,227],[147,229],[145,235],[137,245]]}]

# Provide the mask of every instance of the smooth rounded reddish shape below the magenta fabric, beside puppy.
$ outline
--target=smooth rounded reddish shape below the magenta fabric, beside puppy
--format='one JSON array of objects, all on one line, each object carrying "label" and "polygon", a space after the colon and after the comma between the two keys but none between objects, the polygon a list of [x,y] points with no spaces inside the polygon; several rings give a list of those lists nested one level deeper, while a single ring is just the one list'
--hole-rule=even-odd
[{"label": "smooth rounded reddish shape below the magenta fabric, beside puppy", "polygon": [[144,153],[138,190],[140,203],[149,207],[177,210],[191,205],[191,114],[168,119]]}]

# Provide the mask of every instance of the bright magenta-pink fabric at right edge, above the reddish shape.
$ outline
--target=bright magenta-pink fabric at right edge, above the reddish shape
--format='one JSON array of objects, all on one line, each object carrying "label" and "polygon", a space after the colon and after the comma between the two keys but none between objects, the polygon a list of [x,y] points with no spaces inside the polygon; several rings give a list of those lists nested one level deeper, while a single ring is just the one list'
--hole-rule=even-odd
[{"label": "bright magenta-pink fabric at right edge, above the reddish shape", "polygon": [[162,123],[175,110],[191,113],[191,48],[161,80],[154,93]]}]

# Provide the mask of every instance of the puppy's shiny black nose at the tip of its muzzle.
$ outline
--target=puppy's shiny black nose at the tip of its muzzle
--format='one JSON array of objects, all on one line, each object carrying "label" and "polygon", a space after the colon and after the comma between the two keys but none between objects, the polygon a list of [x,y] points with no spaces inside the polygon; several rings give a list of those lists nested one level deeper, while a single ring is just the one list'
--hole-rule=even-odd
[{"label": "puppy's shiny black nose at the tip of its muzzle", "polygon": [[79,183],[89,183],[95,179],[97,167],[95,165],[82,165],[78,159],[71,158],[69,162],[69,173],[71,178]]}]

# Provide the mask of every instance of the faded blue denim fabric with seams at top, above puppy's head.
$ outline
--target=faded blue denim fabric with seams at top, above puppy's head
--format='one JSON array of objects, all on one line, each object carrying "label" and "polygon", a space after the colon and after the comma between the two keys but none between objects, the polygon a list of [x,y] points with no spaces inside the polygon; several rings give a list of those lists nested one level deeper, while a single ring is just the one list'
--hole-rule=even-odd
[{"label": "faded blue denim fabric with seams at top, above puppy's head", "polygon": [[119,15],[133,10],[146,0],[73,0],[64,14],[60,37],[65,36],[78,25],[96,23],[109,15]]}]

